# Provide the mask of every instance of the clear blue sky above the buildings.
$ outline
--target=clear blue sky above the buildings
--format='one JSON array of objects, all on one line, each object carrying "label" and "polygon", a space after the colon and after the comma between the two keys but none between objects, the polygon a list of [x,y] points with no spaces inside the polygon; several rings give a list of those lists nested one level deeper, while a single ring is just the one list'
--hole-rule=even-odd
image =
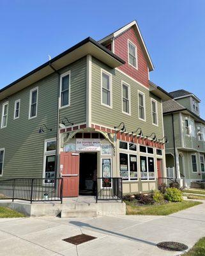
[{"label": "clear blue sky above the buildings", "polygon": [[201,100],[205,118],[205,1],[0,1],[0,88],[91,36],[99,40],[136,19],[155,70],[168,92]]}]

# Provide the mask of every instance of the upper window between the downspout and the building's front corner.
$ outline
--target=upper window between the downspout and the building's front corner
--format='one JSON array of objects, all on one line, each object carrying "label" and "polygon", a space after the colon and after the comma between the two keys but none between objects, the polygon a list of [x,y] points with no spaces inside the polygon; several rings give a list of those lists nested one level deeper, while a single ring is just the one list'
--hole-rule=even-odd
[{"label": "upper window between the downspout and the building's front corner", "polygon": [[70,72],[61,76],[61,107],[70,106]]}]

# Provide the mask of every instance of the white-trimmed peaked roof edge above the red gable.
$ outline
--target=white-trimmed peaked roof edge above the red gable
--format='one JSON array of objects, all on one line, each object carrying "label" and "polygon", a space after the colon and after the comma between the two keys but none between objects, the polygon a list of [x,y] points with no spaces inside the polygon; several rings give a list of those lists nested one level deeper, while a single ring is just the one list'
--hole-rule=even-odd
[{"label": "white-trimmed peaked roof edge above the red gable", "polygon": [[144,56],[146,58],[146,61],[148,63],[148,67],[149,67],[149,71],[152,71],[155,69],[153,62],[151,61],[151,58],[149,56],[149,52],[148,49],[146,47],[146,44],[144,42],[144,39],[142,37],[142,34],[140,32],[139,26],[137,24],[136,20],[133,20],[132,22],[128,23],[127,25],[123,26],[122,28],[114,31],[113,33],[111,33],[108,36],[105,36],[105,38],[102,38],[101,40],[99,40],[98,42],[100,44],[105,44],[108,42],[111,42],[113,38],[116,38],[117,36],[121,35],[122,33],[124,33],[125,31],[127,31],[128,29],[133,28],[135,31],[135,34],[137,36],[137,39],[139,40],[139,44],[142,47],[142,51],[144,52]]}]

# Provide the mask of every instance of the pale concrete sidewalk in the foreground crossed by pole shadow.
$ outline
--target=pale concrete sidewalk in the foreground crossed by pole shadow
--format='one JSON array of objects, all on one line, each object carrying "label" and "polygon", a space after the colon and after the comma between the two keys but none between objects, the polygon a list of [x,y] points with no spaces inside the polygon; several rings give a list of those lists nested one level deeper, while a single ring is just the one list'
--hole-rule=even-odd
[{"label": "pale concrete sidewalk in the foreground crossed by pole shadow", "polygon": [[[97,238],[78,246],[62,241],[82,233]],[[0,255],[180,255],[156,243],[177,241],[190,248],[202,236],[205,204],[169,216],[0,219]]]}]

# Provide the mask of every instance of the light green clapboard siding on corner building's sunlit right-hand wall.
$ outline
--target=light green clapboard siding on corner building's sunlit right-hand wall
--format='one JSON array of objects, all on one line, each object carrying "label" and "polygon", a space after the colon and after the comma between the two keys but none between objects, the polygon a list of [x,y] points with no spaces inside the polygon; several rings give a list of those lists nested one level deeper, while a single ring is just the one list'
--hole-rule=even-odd
[{"label": "light green clapboard siding on corner building's sunlit right-hand wall", "polygon": [[[112,109],[101,105],[101,68],[112,74]],[[122,113],[121,81],[130,85],[131,115]],[[146,122],[138,118],[138,92],[143,92],[146,99]],[[152,124],[151,97],[158,101],[158,127]],[[92,59],[92,104],[91,118],[95,124],[114,127],[120,122],[125,122],[128,132],[141,127],[144,135],[156,132],[157,138],[163,137],[162,129],[162,104],[160,99],[152,95],[149,90],[123,75],[118,70],[109,68],[95,58]]]}]

